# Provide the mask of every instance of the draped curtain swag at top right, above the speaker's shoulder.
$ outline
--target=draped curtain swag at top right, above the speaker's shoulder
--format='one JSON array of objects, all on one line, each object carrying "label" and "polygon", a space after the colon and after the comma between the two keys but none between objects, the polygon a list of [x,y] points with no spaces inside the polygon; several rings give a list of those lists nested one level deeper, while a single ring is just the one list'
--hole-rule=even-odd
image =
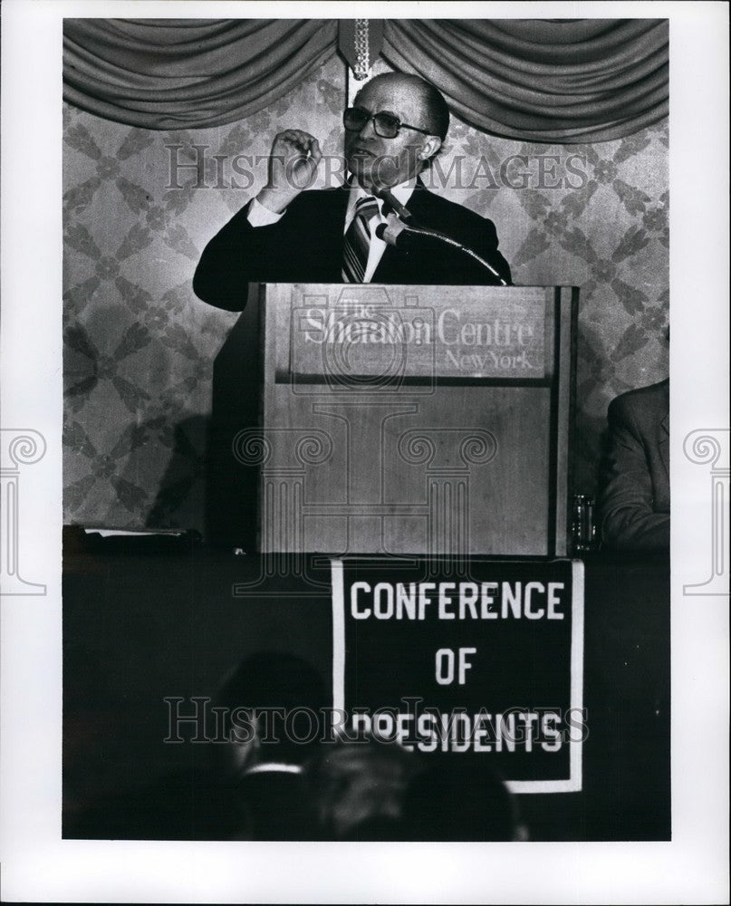
[{"label": "draped curtain swag at top right, above the speaker's shoulder", "polygon": [[383,55],[507,139],[609,141],[668,115],[667,20],[387,20]]}]

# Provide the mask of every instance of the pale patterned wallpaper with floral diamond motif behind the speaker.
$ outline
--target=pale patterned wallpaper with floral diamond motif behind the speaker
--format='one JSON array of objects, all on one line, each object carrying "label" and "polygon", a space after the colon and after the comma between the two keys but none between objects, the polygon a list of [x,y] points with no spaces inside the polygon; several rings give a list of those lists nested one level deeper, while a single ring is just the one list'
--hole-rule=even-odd
[{"label": "pale patterned wallpaper with floral diamond motif behind the speaker", "polygon": [[[333,59],[216,129],[133,129],[65,105],[65,522],[203,531],[212,369],[238,315],[196,299],[197,259],[262,184],[275,132],[340,152],[344,99]],[[453,120],[432,180],[495,221],[515,283],[582,287],[577,490],[592,493],[609,401],[667,375],[667,122],[561,146]]]}]

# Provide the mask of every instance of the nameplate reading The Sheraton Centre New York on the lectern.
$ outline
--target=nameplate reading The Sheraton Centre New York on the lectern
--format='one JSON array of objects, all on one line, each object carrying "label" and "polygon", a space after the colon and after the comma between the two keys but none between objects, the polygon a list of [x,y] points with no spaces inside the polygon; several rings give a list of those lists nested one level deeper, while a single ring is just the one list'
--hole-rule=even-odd
[{"label": "nameplate reading The Sheraton Centre New York on the lectern", "polygon": [[289,373],[299,381],[333,373],[384,381],[399,374],[427,380],[549,376],[543,290],[524,287],[478,298],[447,287],[430,294],[428,304],[405,295],[397,307],[392,290],[349,289],[334,304],[304,296],[293,309]]}]

